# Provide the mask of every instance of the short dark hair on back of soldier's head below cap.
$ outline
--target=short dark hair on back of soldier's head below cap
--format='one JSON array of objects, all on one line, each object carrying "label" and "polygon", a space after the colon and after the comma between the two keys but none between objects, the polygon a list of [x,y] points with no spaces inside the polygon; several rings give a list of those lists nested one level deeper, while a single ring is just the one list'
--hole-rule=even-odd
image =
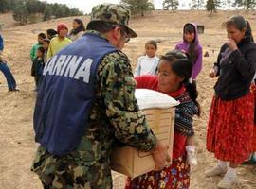
[{"label": "short dark hair on back of soldier's head below cap", "polygon": [[106,33],[108,31],[111,31],[114,28],[115,26],[113,26],[113,24],[107,23],[104,21],[89,22],[88,25],[86,26],[86,30],[95,30],[95,31],[99,31],[100,33]]}]

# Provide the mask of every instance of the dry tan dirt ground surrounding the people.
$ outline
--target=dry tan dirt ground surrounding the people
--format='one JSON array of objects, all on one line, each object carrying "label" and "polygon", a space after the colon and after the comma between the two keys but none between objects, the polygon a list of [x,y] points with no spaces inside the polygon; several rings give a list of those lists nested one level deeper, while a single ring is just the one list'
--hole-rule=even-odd
[{"label": "dry tan dirt ground surrounding the people", "polygon": [[[195,22],[205,26],[205,33],[199,36],[204,53],[204,68],[198,77],[199,102],[202,115],[195,118],[195,133],[198,141],[199,165],[192,169],[192,189],[215,189],[221,178],[206,178],[204,171],[214,163],[212,154],[206,151],[207,121],[215,79],[208,77],[212,63],[216,60],[219,48],[226,41],[226,31],[221,23],[230,15],[244,14],[256,31],[256,14],[253,12],[219,11],[210,16],[205,11],[154,11],[145,18],[135,18],[131,27],[137,31],[138,37],[132,39],[123,49],[129,56],[133,67],[137,57],[144,52],[144,44],[148,40],[156,40],[158,55],[174,49],[175,43],[181,40],[182,26],[187,22]],[[34,143],[32,115],[36,94],[33,92],[33,77],[30,77],[31,62],[29,50],[36,43],[37,34],[48,28],[55,28],[57,23],[65,22],[71,26],[73,18],[64,18],[28,26],[16,26],[9,14],[0,15],[0,23],[4,23],[1,31],[5,40],[4,57],[17,80],[20,92],[7,92],[6,80],[0,74],[0,188],[3,189],[39,189],[42,188],[37,176],[30,172],[37,144]],[[82,17],[85,23],[88,18]],[[254,32],[255,34],[255,32]],[[233,188],[256,188],[256,167],[241,165],[238,168],[239,183]],[[123,188],[124,176],[113,172],[114,188]]]}]

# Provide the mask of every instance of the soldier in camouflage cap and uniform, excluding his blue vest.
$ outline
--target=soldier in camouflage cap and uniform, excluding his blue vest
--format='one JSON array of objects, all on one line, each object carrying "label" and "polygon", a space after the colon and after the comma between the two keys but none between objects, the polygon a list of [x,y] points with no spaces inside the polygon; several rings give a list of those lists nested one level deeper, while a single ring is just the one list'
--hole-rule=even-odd
[{"label": "soldier in camouflage cap and uniform, excluding his blue vest", "polygon": [[[136,81],[127,56],[120,51],[129,38],[137,36],[128,27],[129,18],[129,10],[119,5],[102,4],[92,9],[92,20],[84,36],[97,36],[119,50],[101,59],[93,83],[96,98],[90,108],[88,120],[84,123],[86,128],[79,145],[68,153],[56,155],[39,141],[41,146],[38,147],[31,169],[38,174],[45,189],[112,188],[109,164],[111,149],[116,140],[139,150],[152,151],[157,169],[161,169],[166,163],[167,147],[157,141],[148,128],[144,114],[138,110],[134,95]],[[47,64],[49,62],[50,60]],[[47,77],[49,76],[46,75],[44,79]],[[49,84],[53,85],[54,82],[52,79]],[[43,90],[39,89],[39,96]],[[67,93],[72,92],[73,90],[69,90]],[[37,98],[35,118],[40,103],[44,104],[46,101],[46,98]],[[59,104],[53,106],[58,107]],[[34,127],[37,127],[37,122],[34,123]]]}]

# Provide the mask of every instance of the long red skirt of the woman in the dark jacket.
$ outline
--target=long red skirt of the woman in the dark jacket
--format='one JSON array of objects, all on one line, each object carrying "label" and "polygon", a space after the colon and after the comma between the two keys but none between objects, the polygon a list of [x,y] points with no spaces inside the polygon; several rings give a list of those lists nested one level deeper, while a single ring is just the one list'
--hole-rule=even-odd
[{"label": "long red skirt of the woman in the dark jacket", "polygon": [[249,156],[254,129],[254,96],[224,101],[214,96],[210,108],[207,149],[222,161],[243,163]]}]

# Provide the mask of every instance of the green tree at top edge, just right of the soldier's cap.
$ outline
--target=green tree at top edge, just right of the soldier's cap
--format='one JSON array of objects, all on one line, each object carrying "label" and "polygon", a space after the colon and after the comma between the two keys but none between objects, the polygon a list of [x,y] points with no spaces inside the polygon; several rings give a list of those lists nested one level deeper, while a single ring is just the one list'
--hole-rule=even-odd
[{"label": "green tree at top edge, just right of the soldier's cap", "polygon": [[131,10],[132,15],[140,14],[142,17],[146,12],[155,9],[149,0],[121,0],[121,4]]}]

